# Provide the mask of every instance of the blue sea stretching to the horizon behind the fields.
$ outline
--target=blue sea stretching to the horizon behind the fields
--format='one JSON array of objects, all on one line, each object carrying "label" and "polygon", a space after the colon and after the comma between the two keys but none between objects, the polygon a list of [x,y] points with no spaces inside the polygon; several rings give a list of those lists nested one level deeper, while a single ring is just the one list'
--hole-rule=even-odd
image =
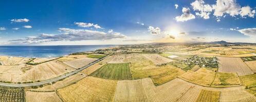
[{"label": "blue sea stretching to the horizon behind the fields", "polygon": [[49,58],[88,52],[114,45],[0,46],[0,56]]}]

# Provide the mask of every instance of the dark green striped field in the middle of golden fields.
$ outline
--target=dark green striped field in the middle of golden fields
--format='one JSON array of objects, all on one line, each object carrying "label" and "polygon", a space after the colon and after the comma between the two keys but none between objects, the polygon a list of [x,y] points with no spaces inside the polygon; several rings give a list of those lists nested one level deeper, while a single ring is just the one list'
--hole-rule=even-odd
[{"label": "dark green striped field in the middle of golden fields", "polygon": [[90,74],[94,77],[111,80],[131,80],[129,63],[109,63]]}]

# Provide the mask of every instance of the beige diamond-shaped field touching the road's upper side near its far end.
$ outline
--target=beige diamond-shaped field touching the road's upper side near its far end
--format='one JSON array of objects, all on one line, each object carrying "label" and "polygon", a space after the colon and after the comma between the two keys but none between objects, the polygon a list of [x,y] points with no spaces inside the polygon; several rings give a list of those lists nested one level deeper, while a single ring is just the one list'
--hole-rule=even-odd
[{"label": "beige diamond-shaped field touching the road's upper side near its far end", "polygon": [[94,61],[96,61],[98,59],[95,59],[95,58],[80,58],[80,59],[75,59],[75,60],[70,60],[70,61],[66,61],[66,62],[63,62],[73,68],[81,68],[83,66],[86,66],[88,65],[89,63],[92,63]]}]

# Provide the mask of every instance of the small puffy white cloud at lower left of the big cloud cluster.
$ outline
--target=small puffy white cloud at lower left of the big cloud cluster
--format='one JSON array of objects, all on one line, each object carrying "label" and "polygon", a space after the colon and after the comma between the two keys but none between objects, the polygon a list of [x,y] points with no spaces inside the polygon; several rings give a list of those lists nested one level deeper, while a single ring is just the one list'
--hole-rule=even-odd
[{"label": "small puffy white cloud at lower left of the big cloud cluster", "polygon": [[175,17],[176,21],[187,21],[190,19],[195,19],[195,16],[190,13],[189,8],[182,8],[182,15]]}]

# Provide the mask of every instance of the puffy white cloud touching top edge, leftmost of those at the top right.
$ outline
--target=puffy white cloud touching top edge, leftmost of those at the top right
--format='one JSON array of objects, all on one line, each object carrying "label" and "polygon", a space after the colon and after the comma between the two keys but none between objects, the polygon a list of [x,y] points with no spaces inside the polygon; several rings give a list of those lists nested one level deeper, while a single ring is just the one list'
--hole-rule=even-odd
[{"label": "puffy white cloud touching top edge, leftmost of those at the top right", "polygon": [[199,11],[199,12],[196,12],[195,14],[197,16],[203,17],[204,19],[209,19],[210,18],[209,15],[215,8],[215,5],[205,4],[203,0],[196,0],[190,5],[193,7],[194,11]]}]

